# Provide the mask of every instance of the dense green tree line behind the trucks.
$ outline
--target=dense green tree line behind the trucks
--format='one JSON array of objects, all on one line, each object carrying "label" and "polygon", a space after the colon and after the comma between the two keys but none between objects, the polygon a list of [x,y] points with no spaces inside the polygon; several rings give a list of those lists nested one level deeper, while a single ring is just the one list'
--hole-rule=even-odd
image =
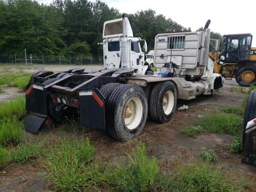
[{"label": "dense green tree line behind the trucks", "polygon": [[[182,25],[156,15],[152,9],[126,14],[134,36],[154,49],[154,37]],[[0,55],[28,54],[102,56],[104,22],[120,18],[116,8],[101,1],[54,0],[50,5],[32,0],[0,0]],[[220,34],[217,34],[222,38]]]}]

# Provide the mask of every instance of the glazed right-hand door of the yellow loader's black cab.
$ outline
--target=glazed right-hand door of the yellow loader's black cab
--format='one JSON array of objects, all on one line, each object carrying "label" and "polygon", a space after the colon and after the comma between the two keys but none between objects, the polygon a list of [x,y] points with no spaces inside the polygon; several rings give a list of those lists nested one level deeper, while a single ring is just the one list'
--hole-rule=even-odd
[{"label": "glazed right-hand door of the yellow loader's black cab", "polygon": [[240,44],[239,44],[240,47],[238,51],[239,60],[250,59],[251,45],[252,45],[252,35],[240,36]]}]

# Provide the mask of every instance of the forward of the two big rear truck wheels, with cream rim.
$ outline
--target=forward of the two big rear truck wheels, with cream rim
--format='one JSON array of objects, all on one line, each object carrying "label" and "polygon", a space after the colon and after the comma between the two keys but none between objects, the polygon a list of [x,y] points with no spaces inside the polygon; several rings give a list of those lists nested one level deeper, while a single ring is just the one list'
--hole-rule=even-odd
[{"label": "forward of the two big rear truck wheels, with cream rim", "polygon": [[150,94],[149,111],[154,122],[166,123],[171,120],[177,104],[177,91],[173,82],[157,83]]}]

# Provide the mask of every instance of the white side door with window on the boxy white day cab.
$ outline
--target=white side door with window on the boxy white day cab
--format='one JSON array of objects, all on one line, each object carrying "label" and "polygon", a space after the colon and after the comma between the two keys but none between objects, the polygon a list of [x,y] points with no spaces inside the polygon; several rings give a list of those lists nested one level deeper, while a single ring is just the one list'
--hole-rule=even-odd
[{"label": "white side door with window on the boxy white day cab", "polygon": [[140,43],[138,41],[130,42],[130,67],[140,68],[142,66],[142,55],[140,53]]}]

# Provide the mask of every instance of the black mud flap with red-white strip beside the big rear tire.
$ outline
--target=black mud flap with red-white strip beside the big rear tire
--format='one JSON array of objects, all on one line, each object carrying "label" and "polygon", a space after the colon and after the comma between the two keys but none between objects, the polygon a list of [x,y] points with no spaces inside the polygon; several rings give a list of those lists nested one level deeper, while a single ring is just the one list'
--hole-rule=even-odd
[{"label": "black mud flap with red-white strip beside the big rear tire", "polygon": [[80,124],[105,130],[104,96],[95,88],[79,92]]}]

